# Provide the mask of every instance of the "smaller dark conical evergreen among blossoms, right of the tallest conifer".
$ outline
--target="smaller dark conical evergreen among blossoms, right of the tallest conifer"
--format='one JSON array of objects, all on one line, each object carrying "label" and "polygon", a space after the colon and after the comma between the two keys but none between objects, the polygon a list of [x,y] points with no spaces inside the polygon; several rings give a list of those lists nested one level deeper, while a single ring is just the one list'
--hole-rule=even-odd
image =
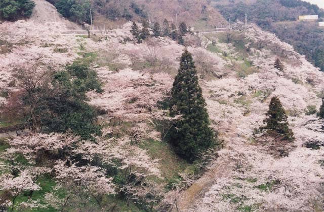
[{"label": "smaller dark conical evergreen among blossoms, right of the tallest conifer", "polygon": [[263,120],[263,123],[266,123],[267,126],[261,129],[266,130],[270,135],[273,135],[273,133],[278,134],[283,137],[283,140],[293,140],[294,133],[288,127],[287,118],[285,109],[282,107],[279,98],[274,96],[271,98],[269,110],[266,113],[266,119]]}]

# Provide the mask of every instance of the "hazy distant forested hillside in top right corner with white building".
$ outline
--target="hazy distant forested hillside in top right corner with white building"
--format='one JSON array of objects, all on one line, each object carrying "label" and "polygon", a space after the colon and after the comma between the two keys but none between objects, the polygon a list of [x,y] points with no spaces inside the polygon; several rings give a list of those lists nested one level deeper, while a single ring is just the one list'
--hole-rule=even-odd
[{"label": "hazy distant forested hillside in top right corner with white building", "polygon": [[[297,0],[271,1],[213,1],[224,17],[232,21],[256,23],[262,29],[275,33],[279,39],[290,43],[300,54],[321,71],[324,71],[323,27],[318,22],[324,17],[324,10],[316,5]],[[318,15],[315,21],[298,21],[302,15]]]}]

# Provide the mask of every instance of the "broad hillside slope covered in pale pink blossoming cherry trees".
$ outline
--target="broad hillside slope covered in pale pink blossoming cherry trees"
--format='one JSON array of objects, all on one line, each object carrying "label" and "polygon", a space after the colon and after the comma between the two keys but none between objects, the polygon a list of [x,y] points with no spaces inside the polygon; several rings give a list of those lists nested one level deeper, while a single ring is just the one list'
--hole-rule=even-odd
[{"label": "broad hillside slope covered in pale pink blossoming cherry trees", "polygon": [[[32,71],[37,65],[57,72],[77,58],[91,61],[104,91],[87,95],[92,105],[106,113],[98,117],[103,136],[98,138],[100,143],[84,142],[78,151],[96,155],[96,159],[102,154],[107,161],[118,157],[112,176],[89,178],[95,185],[110,177],[114,180],[120,195],[105,193],[101,204],[89,194],[72,195],[75,187],[54,178],[58,165],[74,175],[68,163],[54,161],[55,167],[48,161],[23,164],[23,174],[42,170],[47,175],[39,174],[43,178],[35,182],[41,186],[39,192],[17,197],[20,210],[55,211],[62,204],[67,210],[91,211],[168,210],[175,209],[175,204],[183,211],[323,209],[323,123],[311,109],[320,106],[324,73],[291,45],[254,25],[246,32],[205,34],[205,46],[196,42],[188,45],[212,127],[224,141],[218,152],[209,155],[214,158],[211,165],[190,165],[164,140],[169,117],[160,105],[170,94],[184,46],[164,37],[151,37],[140,44],[130,41],[131,25],[128,22],[121,29],[91,38],[63,34],[66,26],[60,23],[39,22],[35,27],[29,20],[0,25],[1,39],[6,43],[0,52],[1,103],[10,105],[12,97],[21,91],[15,78],[17,68]],[[284,71],[273,67],[276,58],[284,63]],[[263,126],[273,96],[279,97],[287,111],[296,138],[293,143],[264,138],[256,130]],[[37,137],[32,134],[26,139]],[[7,156],[15,149],[5,142],[0,145],[3,175],[9,173]],[[114,171],[104,168],[109,174]],[[206,175],[196,180],[197,172],[205,169]],[[128,173],[139,182],[122,184]],[[123,196],[120,188],[130,189],[131,197]],[[1,194],[8,199],[0,204],[10,206],[10,197]]]}]

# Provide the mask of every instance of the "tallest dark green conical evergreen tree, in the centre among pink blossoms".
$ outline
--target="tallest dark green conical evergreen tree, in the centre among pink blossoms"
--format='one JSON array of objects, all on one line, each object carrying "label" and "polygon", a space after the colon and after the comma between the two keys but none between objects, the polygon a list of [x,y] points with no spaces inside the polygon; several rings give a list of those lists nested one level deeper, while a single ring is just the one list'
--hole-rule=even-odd
[{"label": "tallest dark green conical evergreen tree, in the centre among pink blossoms", "polygon": [[215,141],[205,106],[192,56],[185,49],[170,99],[170,115],[180,115],[181,119],[173,123],[167,136],[175,151],[189,162]]}]

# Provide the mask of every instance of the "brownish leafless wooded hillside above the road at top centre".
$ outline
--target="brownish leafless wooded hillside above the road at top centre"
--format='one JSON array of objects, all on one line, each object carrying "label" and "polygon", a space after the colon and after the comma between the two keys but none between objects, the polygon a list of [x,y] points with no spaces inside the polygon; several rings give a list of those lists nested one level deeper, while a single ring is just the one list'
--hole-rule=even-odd
[{"label": "brownish leafless wooded hillside above the road at top centre", "polygon": [[[49,1],[54,5],[57,0]],[[126,20],[140,22],[142,19],[163,23],[180,24],[185,21],[188,26],[196,29],[211,29],[215,26],[226,25],[226,20],[217,9],[206,0],[125,0],[125,1],[92,1],[93,23],[97,27],[115,28]],[[66,7],[69,4],[65,5]],[[75,18],[78,20],[78,18]]]}]

